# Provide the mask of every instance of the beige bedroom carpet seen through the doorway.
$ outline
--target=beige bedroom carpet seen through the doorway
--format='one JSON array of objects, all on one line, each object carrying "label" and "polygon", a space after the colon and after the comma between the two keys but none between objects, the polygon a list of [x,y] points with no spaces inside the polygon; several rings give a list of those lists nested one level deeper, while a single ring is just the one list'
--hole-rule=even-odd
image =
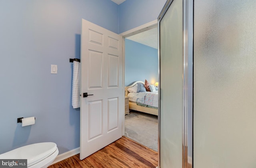
[{"label": "beige bedroom carpet seen through the doorway", "polygon": [[130,111],[125,115],[124,136],[158,151],[158,116]]}]

